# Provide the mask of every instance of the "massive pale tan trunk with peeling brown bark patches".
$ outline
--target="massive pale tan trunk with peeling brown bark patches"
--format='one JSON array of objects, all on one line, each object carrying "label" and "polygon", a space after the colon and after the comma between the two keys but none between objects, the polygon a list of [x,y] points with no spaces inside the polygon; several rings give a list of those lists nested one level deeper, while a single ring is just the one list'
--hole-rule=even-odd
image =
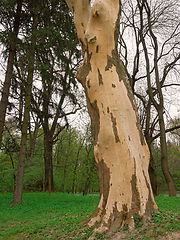
[{"label": "massive pale tan trunk with peeling brown bark patches", "polygon": [[72,10],[84,62],[82,83],[94,133],[100,202],[85,222],[95,231],[114,231],[134,216],[144,221],[157,210],[148,175],[149,151],[137,108],[117,54],[119,0],[66,0]]}]

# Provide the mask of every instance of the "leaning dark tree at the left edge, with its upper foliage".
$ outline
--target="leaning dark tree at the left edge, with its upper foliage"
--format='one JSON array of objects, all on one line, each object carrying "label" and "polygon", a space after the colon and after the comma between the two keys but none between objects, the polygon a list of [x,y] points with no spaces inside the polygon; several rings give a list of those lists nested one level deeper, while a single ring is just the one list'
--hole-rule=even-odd
[{"label": "leaning dark tree at the left edge, with its upper foliage", "polygon": [[[1,1],[0,3],[0,24],[3,25],[5,31],[1,31],[0,42],[5,46],[9,44],[8,61],[5,80],[3,84],[3,91],[0,101],[0,147],[2,142],[2,133],[4,129],[4,122],[6,116],[6,109],[8,105],[9,89],[11,85],[11,78],[13,73],[14,57],[16,53],[17,36],[21,24],[21,9],[22,0],[17,1]],[[11,25],[11,20],[13,24]],[[6,36],[6,37],[5,37]],[[8,36],[8,38],[7,38]],[[8,46],[7,46],[8,48]]]}]

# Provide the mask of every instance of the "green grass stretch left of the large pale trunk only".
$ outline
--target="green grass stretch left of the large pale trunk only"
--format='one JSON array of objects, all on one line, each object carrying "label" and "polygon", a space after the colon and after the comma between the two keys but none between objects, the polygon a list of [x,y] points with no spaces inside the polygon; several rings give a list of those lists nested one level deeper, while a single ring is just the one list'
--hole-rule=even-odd
[{"label": "green grass stretch left of the large pale trunk only", "polygon": [[98,195],[24,193],[23,204],[14,207],[12,197],[0,194],[0,239],[69,239],[77,233],[79,239],[87,239],[91,235],[79,223],[93,212]]}]

